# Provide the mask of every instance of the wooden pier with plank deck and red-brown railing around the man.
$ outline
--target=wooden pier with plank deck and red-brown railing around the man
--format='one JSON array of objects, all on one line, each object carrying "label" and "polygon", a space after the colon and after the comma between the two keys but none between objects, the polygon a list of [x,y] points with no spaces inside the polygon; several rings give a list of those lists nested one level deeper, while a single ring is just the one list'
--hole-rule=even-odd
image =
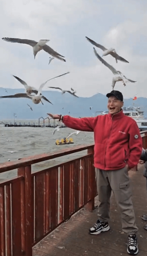
[{"label": "wooden pier with plank deck and red-brown railing around the man", "polygon": [[[147,148],[147,131],[140,134]],[[110,231],[98,236],[88,233],[97,220],[98,204],[93,148],[93,144],[79,145],[0,164],[0,173],[17,169],[16,177],[0,181],[0,255],[128,255],[127,234],[122,232],[113,194]],[[70,161],[31,171],[32,164],[80,151],[84,151],[81,157],[73,155]],[[147,231],[141,215],[147,213],[146,180],[139,165],[134,170],[129,170],[129,176],[139,227],[139,256],[144,256]]]}]

